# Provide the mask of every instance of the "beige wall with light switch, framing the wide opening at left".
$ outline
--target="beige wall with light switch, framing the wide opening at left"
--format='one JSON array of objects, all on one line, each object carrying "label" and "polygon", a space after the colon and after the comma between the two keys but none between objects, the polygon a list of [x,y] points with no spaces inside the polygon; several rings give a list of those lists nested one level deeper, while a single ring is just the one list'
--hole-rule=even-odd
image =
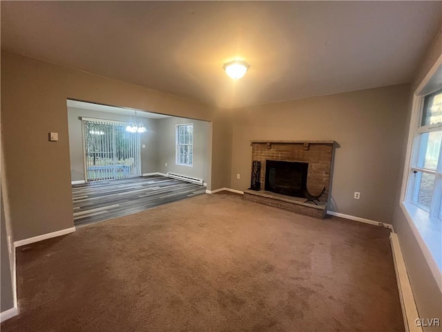
[{"label": "beige wall with light switch, framing the wide opening at left", "polygon": [[[73,226],[66,99],[213,121],[212,171],[228,187],[228,124],[221,109],[106,77],[1,51],[1,136],[15,241]],[[220,122],[220,124],[218,124]],[[17,124],[21,130],[17,130]],[[49,142],[48,133],[59,133]],[[216,154],[217,158],[213,158]],[[219,165],[215,165],[219,163]]]}]

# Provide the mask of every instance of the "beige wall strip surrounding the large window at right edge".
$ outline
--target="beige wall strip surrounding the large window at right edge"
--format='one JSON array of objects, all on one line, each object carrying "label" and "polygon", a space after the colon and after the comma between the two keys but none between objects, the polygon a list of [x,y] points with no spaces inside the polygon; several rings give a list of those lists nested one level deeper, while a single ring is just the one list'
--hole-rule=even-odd
[{"label": "beige wall strip surrounding the large window at right edge", "polygon": [[[436,318],[442,320],[442,294],[436,284],[434,275],[425,260],[423,252],[414,236],[410,224],[401,210],[401,188],[403,180],[403,170],[405,167],[405,154],[407,151],[408,130],[412,114],[412,99],[414,91],[421,84],[425,75],[441,55],[442,50],[442,28],[434,39],[432,46],[427,50],[421,61],[421,66],[416,72],[416,76],[407,101],[407,111],[404,111],[405,118],[404,135],[402,136],[401,158],[398,167],[398,182],[396,187],[396,198],[394,200],[394,216],[392,223],[394,230],[398,234],[399,243],[403,253],[405,266],[407,267],[408,279],[412,285],[414,300],[421,318]],[[442,278],[442,275],[439,276]],[[424,331],[441,331],[438,326],[424,326]]]}]

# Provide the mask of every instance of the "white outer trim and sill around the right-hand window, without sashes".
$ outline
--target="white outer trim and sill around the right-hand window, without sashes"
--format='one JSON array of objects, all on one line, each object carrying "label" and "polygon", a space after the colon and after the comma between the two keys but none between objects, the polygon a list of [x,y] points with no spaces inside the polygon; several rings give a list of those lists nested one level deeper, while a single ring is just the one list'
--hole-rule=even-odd
[{"label": "white outer trim and sill around the right-hand window, without sashes", "polygon": [[[441,66],[442,55],[439,56],[439,59],[437,59],[413,95],[412,116],[410,120],[410,129],[408,132],[400,205],[403,213],[405,214],[405,218],[410,224],[414,237],[419,243],[423,256],[430,267],[436,284],[439,286],[439,290],[442,292],[442,223],[439,219],[431,217],[427,213],[423,212],[423,210],[418,208],[416,205],[407,203],[409,198],[407,197],[407,194],[410,195],[410,193],[407,193],[407,187],[409,185],[409,181],[412,181],[412,177],[409,176],[410,169],[412,169],[412,158],[415,158],[415,156],[412,156],[412,147],[414,144],[414,138],[416,136],[416,128],[419,128],[418,121],[421,118],[423,107],[423,95],[421,95],[421,93]],[[416,150],[417,149],[415,149],[415,151]]]}]

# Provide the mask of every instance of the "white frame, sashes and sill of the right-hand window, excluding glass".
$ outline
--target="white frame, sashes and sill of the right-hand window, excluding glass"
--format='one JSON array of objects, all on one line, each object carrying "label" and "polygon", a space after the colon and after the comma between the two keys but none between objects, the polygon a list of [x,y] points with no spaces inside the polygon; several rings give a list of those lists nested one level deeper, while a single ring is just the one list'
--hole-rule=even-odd
[{"label": "white frame, sashes and sill of the right-hand window, excluding glass", "polygon": [[[417,158],[419,157],[419,149],[417,144],[420,144],[421,133],[430,131],[439,131],[440,124],[430,124],[429,126],[421,127],[421,120],[423,116],[423,102],[425,95],[429,95],[434,91],[442,88],[438,75],[442,73],[442,54],[436,60],[430,71],[425,75],[421,84],[419,84],[416,91],[414,91],[412,102],[412,115],[410,118],[410,127],[407,136],[407,150],[405,154],[405,165],[403,169],[403,181],[401,187],[400,206],[405,219],[416,238],[425,257],[425,261],[432,271],[432,275],[442,291],[442,221],[439,218],[431,216],[430,213],[425,212],[418,205],[411,203],[412,188],[414,185],[414,171],[432,173],[428,169],[416,167]],[[436,84],[434,84],[436,82]],[[429,128],[432,127],[432,128]],[[439,163],[437,165],[437,172],[441,172],[441,154],[439,154]],[[434,171],[433,174],[437,174]],[[442,184],[442,177],[439,177],[439,182],[436,178],[435,185]],[[436,188],[437,189],[437,188]],[[433,194],[436,190],[433,191]],[[440,194],[441,190],[439,190]],[[442,204],[441,204],[442,205]],[[439,206],[439,213],[442,211],[442,206]]]}]

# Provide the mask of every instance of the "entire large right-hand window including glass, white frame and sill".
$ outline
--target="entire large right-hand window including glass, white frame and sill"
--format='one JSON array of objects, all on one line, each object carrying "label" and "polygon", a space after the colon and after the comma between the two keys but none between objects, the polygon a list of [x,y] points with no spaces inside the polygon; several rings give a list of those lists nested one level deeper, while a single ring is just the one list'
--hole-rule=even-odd
[{"label": "entire large right-hand window including glass, white frame and sill", "polygon": [[442,289],[442,54],[414,91],[401,210]]}]

